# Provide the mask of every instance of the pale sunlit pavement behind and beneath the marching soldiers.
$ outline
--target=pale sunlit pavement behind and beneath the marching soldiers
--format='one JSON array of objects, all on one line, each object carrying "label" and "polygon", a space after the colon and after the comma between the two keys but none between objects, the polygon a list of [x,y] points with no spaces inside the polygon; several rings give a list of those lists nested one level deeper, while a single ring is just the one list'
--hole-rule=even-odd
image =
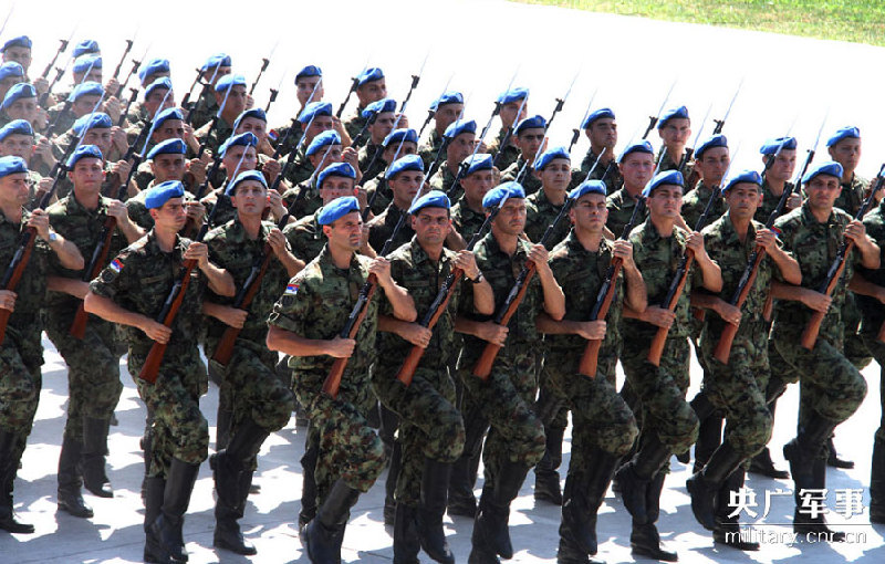
[{"label": "pale sunlit pavement behind and beneath the marching soldiers", "polygon": [[[82,8],[73,3],[19,2],[3,38],[29,32],[38,42],[34,69],[39,73],[51,56],[58,39],[67,36],[77,20],[74,40],[96,38],[105,49],[105,66],[116,65],[123,39],[140,24],[134,54],[140,54],[153,41],[150,53],[173,59],[173,77],[178,96],[192,80],[192,69],[210,52],[225,50],[235,55],[235,66],[251,83],[261,56],[267,56],[279,40],[277,56],[259,85],[256,97],[263,106],[267,88],[277,86],[285,74],[287,84],[271,111],[273,124],[281,124],[294,111],[291,76],[308,63],[323,66],[327,100],[337,105],[348,77],[368,59],[388,75],[389,94],[400,98],[408,88],[408,75],[417,72],[430,52],[427,70],[413,95],[409,114],[413,125],[423,122],[428,102],[438,95],[449,76],[451,87],[460,88],[468,100],[467,116],[480,127],[488,118],[491,100],[502,90],[519,65],[519,84],[532,88],[532,113],[548,116],[553,98],[562,96],[579,66],[582,73],[572,97],[556,118],[552,143],[568,143],[571,128],[584,114],[591,93],[598,86],[594,107],[612,105],[618,115],[622,144],[641,132],[647,115],[657,111],[669,85],[676,79],[671,104],[686,104],[696,119],[712,103],[711,117],[721,117],[741,77],[743,90],[735,105],[726,134],[741,142],[736,159],[739,166],[758,164],[756,148],[769,136],[790,129],[800,138],[800,150],[811,143],[823,115],[830,112],[829,126],[860,125],[864,134],[865,158],[860,171],[875,174],[885,157],[885,129],[879,93],[883,87],[879,48],[787,38],[754,32],[722,30],[689,24],[653,22],[607,14],[509,4],[498,0],[452,0],[403,2],[381,0],[330,0],[296,2],[275,8],[278,2],[217,2],[211,13],[198,2],[166,4],[111,4],[104,15],[85,20]],[[114,8],[106,8],[114,6]],[[146,11],[140,12],[143,8]],[[262,13],[274,7],[272,15]],[[138,11],[137,17],[133,15]],[[6,4],[0,6],[0,14]],[[169,23],[174,15],[181,22]],[[187,32],[185,32],[187,29]],[[252,31],[257,30],[257,31]],[[248,33],[253,33],[251,36]],[[357,38],[357,39],[353,39]],[[298,43],[304,40],[304,43]],[[174,55],[174,53],[178,53]],[[63,58],[62,58],[63,59]],[[126,63],[124,66],[128,66]],[[106,71],[106,72],[110,72]],[[351,108],[354,101],[351,102]],[[497,130],[497,125],[494,126]],[[707,127],[709,130],[709,126]],[[656,142],[655,135],[652,139]],[[576,152],[585,150],[581,142]],[[576,153],[577,155],[577,153]],[[577,158],[577,157],[576,157]],[[49,343],[48,343],[49,345]],[[138,485],[142,457],[138,438],[144,408],[125,373],[126,389],[117,409],[119,427],[112,429],[110,476],[117,495],[101,500],[87,495],[96,516],[77,520],[55,512],[55,467],[66,398],[65,368],[61,358],[48,351],[44,366],[44,391],[38,421],[24,456],[24,468],[17,482],[17,510],[38,526],[35,535],[0,535],[1,563],[43,562],[138,562],[142,553],[142,505]],[[870,383],[868,400],[837,431],[841,453],[857,462],[852,471],[830,471],[829,505],[835,504],[834,489],[864,489],[868,501],[872,434],[878,425],[878,367],[865,370]],[[699,384],[697,367],[693,383]],[[693,394],[694,390],[689,394]],[[790,439],[795,421],[796,389],[781,400],[778,427],[772,446],[780,466],[780,446]],[[204,398],[205,412],[214,425],[217,390],[211,387]],[[214,431],[212,431],[214,432]],[[565,462],[568,450],[565,443]],[[298,462],[303,451],[303,434],[293,422],[274,435],[264,446],[257,481],[262,492],[250,498],[243,530],[254,539],[259,556],[241,558],[211,550],[211,474],[205,466],[197,482],[185,525],[190,561],[282,563],[306,561],[293,524],[300,504],[301,472]],[[683,464],[673,461],[674,473],[667,480],[659,522],[662,534],[679,551],[681,562],[879,562],[885,557],[882,528],[868,525],[866,514],[848,521],[834,515],[831,521],[865,535],[865,540],[839,546],[789,545],[773,543],[756,554],[745,555],[728,549],[712,547],[708,533],[694,521],[685,492],[688,477]],[[553,562],[555,560],[558,508],[534,506],[530,476],[520,498],[513,503],[511,531],[517,555],[514,562]],[[788,481],[751,478],[757,491],[758,511],[764,504],[764,490],[789,489]],[[383,489],[378,483],[357,503],[344,541],[348,562],[387,562],[392,558],[392,531],[382,524]],[[792,504],[789,498],[775,497],[766,524],[789,523]],[[447,521],[450,542],[459,561],[469,552],[471,523],[466,519]],[[789,526],[760,529],[788,533]],[[600,556],[608,562],[631,562],[629,519],[611,492],[598,524]]]}]

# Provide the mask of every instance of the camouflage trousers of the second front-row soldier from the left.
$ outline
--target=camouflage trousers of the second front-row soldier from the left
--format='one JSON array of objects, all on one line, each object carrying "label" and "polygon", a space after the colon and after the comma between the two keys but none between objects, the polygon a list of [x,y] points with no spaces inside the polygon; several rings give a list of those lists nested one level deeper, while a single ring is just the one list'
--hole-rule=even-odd
[{"label": "camouflage trousers of the second front-row soldier from the left", "polygon": [[399,416],[403,466],[394,497],[418,505],[425,460],[455,462],[464,450],[464,419],[455,407],[455,383],[446,367],[419,367],[408,387],[392,373],[376,369],[373,388],[382,404]]}]

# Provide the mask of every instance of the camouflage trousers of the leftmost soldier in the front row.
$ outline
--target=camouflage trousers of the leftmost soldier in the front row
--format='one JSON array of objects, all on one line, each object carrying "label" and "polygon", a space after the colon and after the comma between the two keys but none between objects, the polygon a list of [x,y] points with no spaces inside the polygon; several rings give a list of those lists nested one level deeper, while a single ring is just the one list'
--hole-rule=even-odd
[{"label": "camouflage trousers of the leftmost soldier in the front row", "polygon": [[384,445],[368,426],[366,415],[375,406],[371,394],[364,405],[332,398],[319,389],[301,386],[295,379],[295,396],[319,439],[314,479],[316,506],[322,505],[339,479],[351,488],[367,492],[384,471]]}]

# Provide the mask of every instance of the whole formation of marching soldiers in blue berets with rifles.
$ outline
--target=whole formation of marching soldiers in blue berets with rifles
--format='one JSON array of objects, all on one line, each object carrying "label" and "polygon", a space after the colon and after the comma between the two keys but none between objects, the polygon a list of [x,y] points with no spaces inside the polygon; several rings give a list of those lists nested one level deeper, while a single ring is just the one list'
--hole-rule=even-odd
[{"label": "whole formation of marching soldiers in blue berets with rifles", "polygon": [[[844,462],[832,436],[865,397],[858,369],[885,365],[883,182],[855,175],[856,127],[829,135],[827,155],[812,149],[799,174],[793,137],[737,171],[722,122],[688,146],[704,124],[666,108],[646,132],[659,150],[645,136],[616,148],[615,113],[590,108],[573,167],[574,139],[548,139],[527,88],[498,97],[488,143],[446,92],[421,140],[381,69],[354,79],[342,121],[347,100],[334,112],[309,65],[299,114],[272,129],[223,53],[180,100],[169,61],[135,64],[140,90],[126,101],[95,41],[72,46],[64,95],[58,79],[29,79],[31,48],[7,40],[0,66],[0,529],[33,532],[12,491],[45,331],[69,367],[58,504],[72,515],[93,515],[83,488],[114,494],[105,455],[127,353],[147,408],[146,562],[187,561],[184,515],[207,458],[215,545],[256,553],[238,520],[263,441],[296,408],[312,562],[340,562],[350,510],[385,464],[397,563],[420,551],[455,562],[446,512],[475,519],[468,562],[512,557],[510,503],[532,469],[535,498],[562,505],[559,562],[596,554],[613,480],[634,554],[676,561],[656,528],[660,493],[670,457],[696,442],[687,489],[717,543],[759,549],[730,504],[748,469],[792,478],[796,532],[844,539],[806,510],[827,460]],[[693,348],[704,383],[689,401]],[[766,445],[795,382],[787,474]],[[871,494],[883,523],[883,428]]]}]

